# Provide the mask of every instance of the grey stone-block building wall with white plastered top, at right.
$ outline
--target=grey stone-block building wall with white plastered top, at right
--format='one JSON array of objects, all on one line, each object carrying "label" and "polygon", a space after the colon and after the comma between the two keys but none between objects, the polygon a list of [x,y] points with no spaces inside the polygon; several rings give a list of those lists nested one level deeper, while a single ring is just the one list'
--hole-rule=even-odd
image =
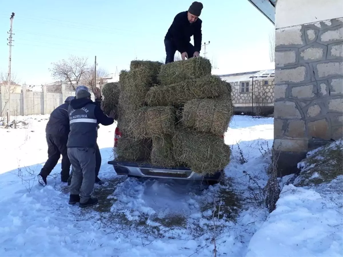
[{"label": "grey stone-block building wall with white plastered top, at right", "polygon": [[343,137],[343,1],[278,0],[274,154],[282,175]]}]

